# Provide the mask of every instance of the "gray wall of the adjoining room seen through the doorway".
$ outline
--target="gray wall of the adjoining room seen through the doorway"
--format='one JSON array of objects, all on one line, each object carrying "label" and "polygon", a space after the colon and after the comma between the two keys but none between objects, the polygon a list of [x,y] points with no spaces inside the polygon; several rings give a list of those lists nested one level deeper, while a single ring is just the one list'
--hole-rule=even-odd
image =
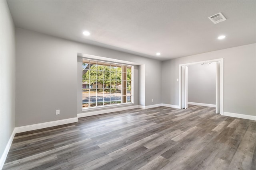
[{"label": "gray wall of the adjoining room seen through the doorway", "polygon": [[216,104],[216,63],[188,66],[188,102]]}]

